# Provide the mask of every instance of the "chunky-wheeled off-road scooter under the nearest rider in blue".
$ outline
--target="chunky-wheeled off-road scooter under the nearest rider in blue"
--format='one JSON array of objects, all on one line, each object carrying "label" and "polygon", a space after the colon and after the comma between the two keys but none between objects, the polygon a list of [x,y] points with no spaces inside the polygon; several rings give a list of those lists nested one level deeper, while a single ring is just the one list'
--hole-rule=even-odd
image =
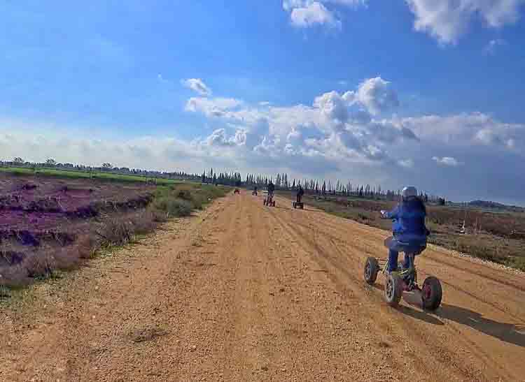
[{"label": "chunky-wheeled off-road scooter under the nearest rider in blue", "polygon": [[[390,248],[393,237],[388,237],[384,245]],[[401,243],[407,244],[407,243]],[[408,268],[403,268],[403,264],[398,264],[398,272],[388,272],[388,260],[381,260],[374,257],[366,259],[365,281],[373,285],[377,279],[377,274],[385,277],[384,298],[391,307],[397,307],[401,297],[409,304],[417,305],[425,310],[435,311],[441,304],[442,289],[440,280],[437,277],[429,276],[423,281],[420,287],[417,284],[417,272],[414,264],[414,257],[421,254],[426,249],[426,245],[419,249],[414,249],[409,253],[405,252],[408,259]]]}]

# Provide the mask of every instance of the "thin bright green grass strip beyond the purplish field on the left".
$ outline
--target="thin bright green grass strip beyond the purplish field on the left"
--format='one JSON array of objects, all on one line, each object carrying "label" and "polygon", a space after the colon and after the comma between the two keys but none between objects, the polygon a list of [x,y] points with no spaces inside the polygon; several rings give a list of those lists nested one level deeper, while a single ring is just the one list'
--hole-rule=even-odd
[{"label": "thin bright green grass strip beyond the purplish field on the left", "polygon": [[0,167],[1,172],[8,172],[13,175],[35,175],[45,177],[59,177],[59,178],[70,178],[70,179],[101,179],[115,182],[143,182],[150,180],[156,182],[158,185],[176,184],[182,182],[176,179],[166,178],[152,178],[144,177],[142,175],[124,175],[116,174],[114,172],[88,172],[78,170],[62,170],[56,168],[27,168],[27,167]]}]

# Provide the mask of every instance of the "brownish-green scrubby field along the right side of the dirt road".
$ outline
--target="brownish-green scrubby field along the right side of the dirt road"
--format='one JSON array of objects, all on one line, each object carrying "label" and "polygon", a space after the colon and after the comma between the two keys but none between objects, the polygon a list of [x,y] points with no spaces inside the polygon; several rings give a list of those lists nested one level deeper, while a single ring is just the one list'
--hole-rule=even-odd
[{"label": "brownish-green scrubby field along the right side of the dirt road", "polygon": [[[279,192],[295,198],[290,192]],[[304,203],[359,223],[391,230],[392,222],[381,219],[379,211],[390,210],[395,202],[341,196],[305,196]],[[466,234],[460,233],[465,220]],[[484,260],[525,271],[525,214],[499,210],[427,205],[429,242]]]}]

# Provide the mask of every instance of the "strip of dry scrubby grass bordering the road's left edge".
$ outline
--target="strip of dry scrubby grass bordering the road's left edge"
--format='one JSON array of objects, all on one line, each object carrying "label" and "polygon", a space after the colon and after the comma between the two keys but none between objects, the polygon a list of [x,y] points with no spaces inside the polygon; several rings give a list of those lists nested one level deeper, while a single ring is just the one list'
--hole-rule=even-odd
[{"label": "strip of dry scrubby grass bordering the road's left edge", "polygon": [[25,256],[18,263],[12,261],[13,251],[7,251],[5,243],[0,242],[0,286],[18,287],[35,279],[57,279],[61,270],[78,267],[101,249],[131,244],[168,219],[189,216],[227,191],[224,187],[200,184],[158,187],[148,207],[132,213],[113,211],[102,221],[93,221],[90,232],[76,237],[74,242],[58,236],[52,246],[34,246],[31,251],[26,247]]}]

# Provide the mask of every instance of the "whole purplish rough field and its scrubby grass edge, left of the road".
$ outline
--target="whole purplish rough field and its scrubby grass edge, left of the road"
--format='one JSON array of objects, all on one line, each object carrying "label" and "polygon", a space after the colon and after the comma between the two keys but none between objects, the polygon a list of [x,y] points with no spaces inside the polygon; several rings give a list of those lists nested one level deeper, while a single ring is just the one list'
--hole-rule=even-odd
[{"label": "whole purplish rough field and its scrubby grass edge, left of the road", "polygon": [[61,270],[78,267],[101,249],[130,244],[160,223],[189,216],[228,191],[189,182],[137,188],[66,179],[5,174],[0,179],[3,289],[57,279]]}]

